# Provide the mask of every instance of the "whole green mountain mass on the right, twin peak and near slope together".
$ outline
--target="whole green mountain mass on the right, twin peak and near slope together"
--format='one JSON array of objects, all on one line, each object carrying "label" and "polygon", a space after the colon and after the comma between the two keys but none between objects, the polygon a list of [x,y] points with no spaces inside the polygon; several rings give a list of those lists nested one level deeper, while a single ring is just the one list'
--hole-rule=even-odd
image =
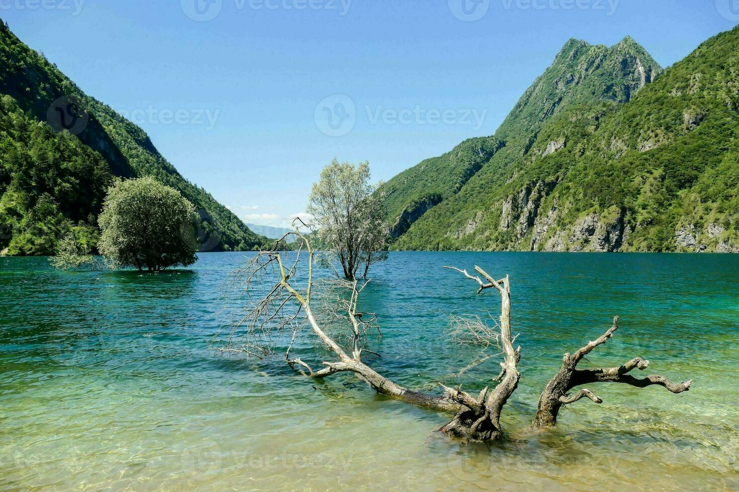
[{"label": "whole green mountain mass on the right, twin peak and near slope together", "polygon": [[664,74],[631,38],[568,41],[494,136],[388,181],[394,247],[739,251],[738,54],[739,28]]}]

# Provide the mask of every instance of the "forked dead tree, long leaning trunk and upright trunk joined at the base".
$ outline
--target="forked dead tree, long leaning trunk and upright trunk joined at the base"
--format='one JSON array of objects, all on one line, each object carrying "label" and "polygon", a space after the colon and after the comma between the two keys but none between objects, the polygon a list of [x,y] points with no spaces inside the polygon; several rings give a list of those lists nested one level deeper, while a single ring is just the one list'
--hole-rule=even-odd
[{"label": "forked dead tree, long leaning trunk and upright trunk joined at the base", "polygon": [[[336,373],[355,373],[381,395],[455,414],[454,419],[443,426],[443,432],[468,440],[491,440],[503,435],[500,430],[500,411],[518,384],[516,364],[520,358],[520,350],[514,350],[511,341],[511,302],[507,277],[496,281],[482,268],[475,267],[486,278],[487,283],[484,283],[480,278],[454,268],[477,281],[480,285],[478,294],[488,288],[497,288],[500,292],[500,333],[494,333],[488,327],[477,333],[477,339],[484,339],[486,344],[497,344],[505,355],[505,360],[500,364],[503,370],[497,378],[500,383],[492,391],[483,389],[477,398],[459,387],[449,388],[443,384],[442,394],[432,395],[402,387],[377,373],[362,360],[364,353],[378,355],[365,348],[367,333],[372,329],[371,322],[375,316],[357,311],[359,295],[367,284],[359,286],[356,280],[317,279],[314,276],[316,252],[310,245],[310,239],[298,231],[288,235],[296,235],[301,245],[295,253],[295,259],[289,264],[285,263],[282,253],[275,248],[259,252],[245,268],[234,272],[236,288],[245,291],[251,300],[248,314],[239,322],[239,327],[245,329],[248,342],[242,339],[239,344],[231,343],[226,351],[262,357],[270,352],[267,346],[274,339],[290,339],[285,360],[302,375],[326,378]],[[298,267],[302,259],[307,263],[307,275],[298,280]],[[477,321],[477,325],[482,324]],[[333,353],[336,360],[322,361],[321,367],[314,369],[302,358],[291,355],[296,336],[306,328]],[[344,344],[342,339],[347,342]]]}]

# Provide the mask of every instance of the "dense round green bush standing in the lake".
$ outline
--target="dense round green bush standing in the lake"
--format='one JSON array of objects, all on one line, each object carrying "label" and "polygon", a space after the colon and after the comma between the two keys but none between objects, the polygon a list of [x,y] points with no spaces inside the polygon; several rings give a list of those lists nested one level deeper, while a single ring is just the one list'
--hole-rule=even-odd
[{"label": "dense round green bush standing in the lake", "polygon": [[119,266],[159,271],[195,263],[195,207],[174,188],[146,177],[110,188],[99,218],[98,249]]}]

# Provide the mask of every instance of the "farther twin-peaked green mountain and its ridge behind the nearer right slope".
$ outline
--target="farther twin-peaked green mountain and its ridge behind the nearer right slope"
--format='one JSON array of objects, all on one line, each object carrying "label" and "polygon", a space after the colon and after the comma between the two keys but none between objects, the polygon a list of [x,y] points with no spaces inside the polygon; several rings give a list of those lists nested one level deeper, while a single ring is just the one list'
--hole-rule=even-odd
[{"label": "farther twin-peaked green mountain and its ridge behind the nearer right slope", "polygon": [[[466,140],[386,183],[394,235],[402,235],[429,209],[459,193],[477,173],[497,173],[525,162],[539,131],[557,114],[578,104],[625,103],[660,73],[658,63],[631,38],[611,48],[571,39],[525,91],[494,136]],[[554,142],[544,151],[558,150],[560,145]],[[427,247],[435,243],[434,238],[425,239],[431,241]]]}]

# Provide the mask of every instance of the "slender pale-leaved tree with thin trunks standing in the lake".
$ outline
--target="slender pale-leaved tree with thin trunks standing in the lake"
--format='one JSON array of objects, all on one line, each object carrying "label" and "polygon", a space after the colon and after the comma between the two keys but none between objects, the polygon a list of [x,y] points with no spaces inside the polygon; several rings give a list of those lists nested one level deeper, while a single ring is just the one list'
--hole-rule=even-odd
[{"label": "slender pale-leaved tree with thin trunks standing in the lake", "polygon": [[307,212],[319,227],[318,235],[338,257],[344,278],[353,280],[360,267],[364,277],[372,263],[386,258],[389,228],[384,200],[369,184],[369,163],[356,167],[333,159],[313,184]]}]

